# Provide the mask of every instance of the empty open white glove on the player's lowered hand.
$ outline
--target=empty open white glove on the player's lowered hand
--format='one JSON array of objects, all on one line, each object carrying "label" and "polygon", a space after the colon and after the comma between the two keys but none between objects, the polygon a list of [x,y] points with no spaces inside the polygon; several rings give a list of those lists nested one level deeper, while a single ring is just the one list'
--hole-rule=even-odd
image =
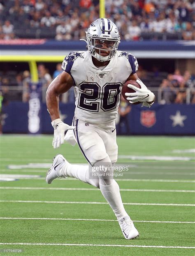
[{"label": "empty open white glove on the player's lowered hand", "polygon": [[56,147],[60,147],[60,144],[64,144],[65,131],[72,130],[75,126],[69,126],[68,124],[63,123],[60,118],[53,120],[51,125],[54,129],[52,146],[56,149]]}]

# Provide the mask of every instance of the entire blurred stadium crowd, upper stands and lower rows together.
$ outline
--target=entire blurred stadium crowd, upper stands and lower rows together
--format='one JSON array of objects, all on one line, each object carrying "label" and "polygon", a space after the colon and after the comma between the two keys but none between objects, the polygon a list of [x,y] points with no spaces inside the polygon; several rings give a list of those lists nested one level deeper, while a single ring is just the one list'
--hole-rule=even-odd
[{"label": "entire blurred stadium crowd, upper stands and lower rows together", "polygon": [[[107,18],[119,28],[122,40],[195,39],[195,2],[193,0],[106,0]],[[99,0],[0,0],[0,39],[48,38],[79,40],[99,17]],[[39,82],[46,89],[60,72],[38,65]],[[139,66],[138,76],[149,88],[157,88],[158,103],[195,104],[195,75],[189,71],[149,72]],[[0,71],[0,88],[4,99],[28,102],[30,72]],[[190,95],[190,97],[188,97]],[[62,98],[63,97],[63,98]],[[74,102],[71,89],[61,96],[63,102]]]}]

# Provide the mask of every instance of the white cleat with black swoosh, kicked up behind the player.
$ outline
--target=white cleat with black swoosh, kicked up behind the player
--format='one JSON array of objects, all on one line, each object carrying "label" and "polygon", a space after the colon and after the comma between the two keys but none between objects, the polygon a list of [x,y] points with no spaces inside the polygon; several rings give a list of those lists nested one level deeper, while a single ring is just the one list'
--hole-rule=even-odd
[{"label": "white cleat with black swoosh, kicked up behind the player", "polygon": [[68,161],[63,157],[63,155],[56,155],[53,159],[53,164],[49,171],[46,173],[46,183],[51,184],[56,178],[66,178],[60,169],[65,165],[69,164]]}]

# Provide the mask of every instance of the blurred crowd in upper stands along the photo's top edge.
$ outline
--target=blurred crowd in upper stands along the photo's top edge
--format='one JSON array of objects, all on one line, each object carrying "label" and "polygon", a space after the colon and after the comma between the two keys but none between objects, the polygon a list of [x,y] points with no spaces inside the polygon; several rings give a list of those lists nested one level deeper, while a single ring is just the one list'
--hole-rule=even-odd
[{"label": "blurred crowd in upper stands along the photo's top edge", "polygon": [[[193,0],[106,0],[122,40],[195,39]],[[0,39],[78,40],[99,17],[99,0],[0,0]]]}]

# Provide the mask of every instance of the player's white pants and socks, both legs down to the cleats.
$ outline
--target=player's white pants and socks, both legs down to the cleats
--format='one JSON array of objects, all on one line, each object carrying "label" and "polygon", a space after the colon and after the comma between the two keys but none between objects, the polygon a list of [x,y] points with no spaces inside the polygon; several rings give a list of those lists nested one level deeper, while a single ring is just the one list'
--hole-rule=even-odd
[{"label": "player's white pants and socks, both legs down to the cleats", "polygon": [[[88,184],[100,188],[102,195],[107,200],[117,219],[127,216],[119,190],[119,186],[113,176],[104,176],[106,166],[111,169],[108,173],[113,173],[112,164],[117,161],[118,146],[116,144],[116,129],[104,129],[84,121],[73,119],[74,135],[81,152],[89,163],[88,166],[70,164],[66,169],[66,174],[75,177]],[[93,172],[93,167],[95,171]],[[101,169],[101,170],[100,170]],[[63,170],[62,170],[63,173]],[[93,176],[93,173],[98,174]]]}]

